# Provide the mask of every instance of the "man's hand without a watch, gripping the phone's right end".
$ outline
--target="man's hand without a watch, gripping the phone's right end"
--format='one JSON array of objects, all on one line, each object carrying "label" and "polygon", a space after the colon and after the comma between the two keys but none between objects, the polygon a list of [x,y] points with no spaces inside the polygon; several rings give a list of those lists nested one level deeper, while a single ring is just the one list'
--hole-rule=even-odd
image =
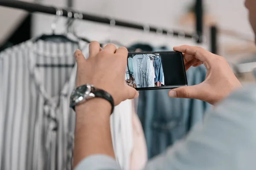
[{"label": "man's hand without a watch, gripping the phone's right end", "polygon": [[189,45],[181,45],[173,49],[183,53],[186,71],[191,66],[197,67],[204,64],[207,74],[204,82],[198,85],[170,90],[170,97],[199,99],[215,105],[233,90],[242,87],[223,57],[201,47]]}]

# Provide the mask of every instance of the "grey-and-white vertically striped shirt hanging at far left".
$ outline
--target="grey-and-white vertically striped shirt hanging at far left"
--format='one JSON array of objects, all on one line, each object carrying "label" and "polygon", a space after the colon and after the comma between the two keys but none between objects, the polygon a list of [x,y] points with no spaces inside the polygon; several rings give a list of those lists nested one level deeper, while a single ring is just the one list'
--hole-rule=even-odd
[{"label": "grey-and-white vertically striped shirt hanging at far left", "polygon": [[[76,65],[45,68],[36,64],[73,65],[77,48],[71,42],[30,40],[0,53],[1,170],[72,168],[76,116],[69,102],[76,86]],[[88,49],[83,53],[88,56]],[[119,110],[128,108],[131,106],[126,104]],[[126,119],[117,113],[112,119],[115,115]],[[118,136],[119,129],[132,129],[131,123],[122,122],[111,135]],[[132,139],[130,133],[122,135]],[[125,144],[119,144],[116,149],[117,158]],[[130,157],[120,165],[126,165],[126,161],[130,162]]]}]

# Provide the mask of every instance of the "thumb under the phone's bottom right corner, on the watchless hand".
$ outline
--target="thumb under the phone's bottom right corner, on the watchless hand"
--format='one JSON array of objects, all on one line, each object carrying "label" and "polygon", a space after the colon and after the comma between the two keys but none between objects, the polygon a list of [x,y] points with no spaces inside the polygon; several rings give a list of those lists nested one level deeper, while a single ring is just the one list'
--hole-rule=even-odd
[{"label": "thumb under the phone's bottom right corner, on the watchless hand", "polygon": [[177,98],[189,98],[189,99],[197,99],[198,91],[196,90],[196,85],[174,88],[169,91],[170,97]]}]

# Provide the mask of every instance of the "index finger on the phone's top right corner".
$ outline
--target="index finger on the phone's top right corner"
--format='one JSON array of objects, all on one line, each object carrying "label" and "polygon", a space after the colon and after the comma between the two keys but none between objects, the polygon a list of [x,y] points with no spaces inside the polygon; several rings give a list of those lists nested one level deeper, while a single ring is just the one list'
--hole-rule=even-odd
[{"label": "index finger on the phone's top right corner", "polygon": [[191,54],[195,56],[195,58],[201,60],[202,62],[207,62],[210,59],[210,53],[209,51],[205,50],[201,47],[196,46],[190,46],[190,45],[181,45],[174,47],[173,50],[180,51],[182,53]]}]

